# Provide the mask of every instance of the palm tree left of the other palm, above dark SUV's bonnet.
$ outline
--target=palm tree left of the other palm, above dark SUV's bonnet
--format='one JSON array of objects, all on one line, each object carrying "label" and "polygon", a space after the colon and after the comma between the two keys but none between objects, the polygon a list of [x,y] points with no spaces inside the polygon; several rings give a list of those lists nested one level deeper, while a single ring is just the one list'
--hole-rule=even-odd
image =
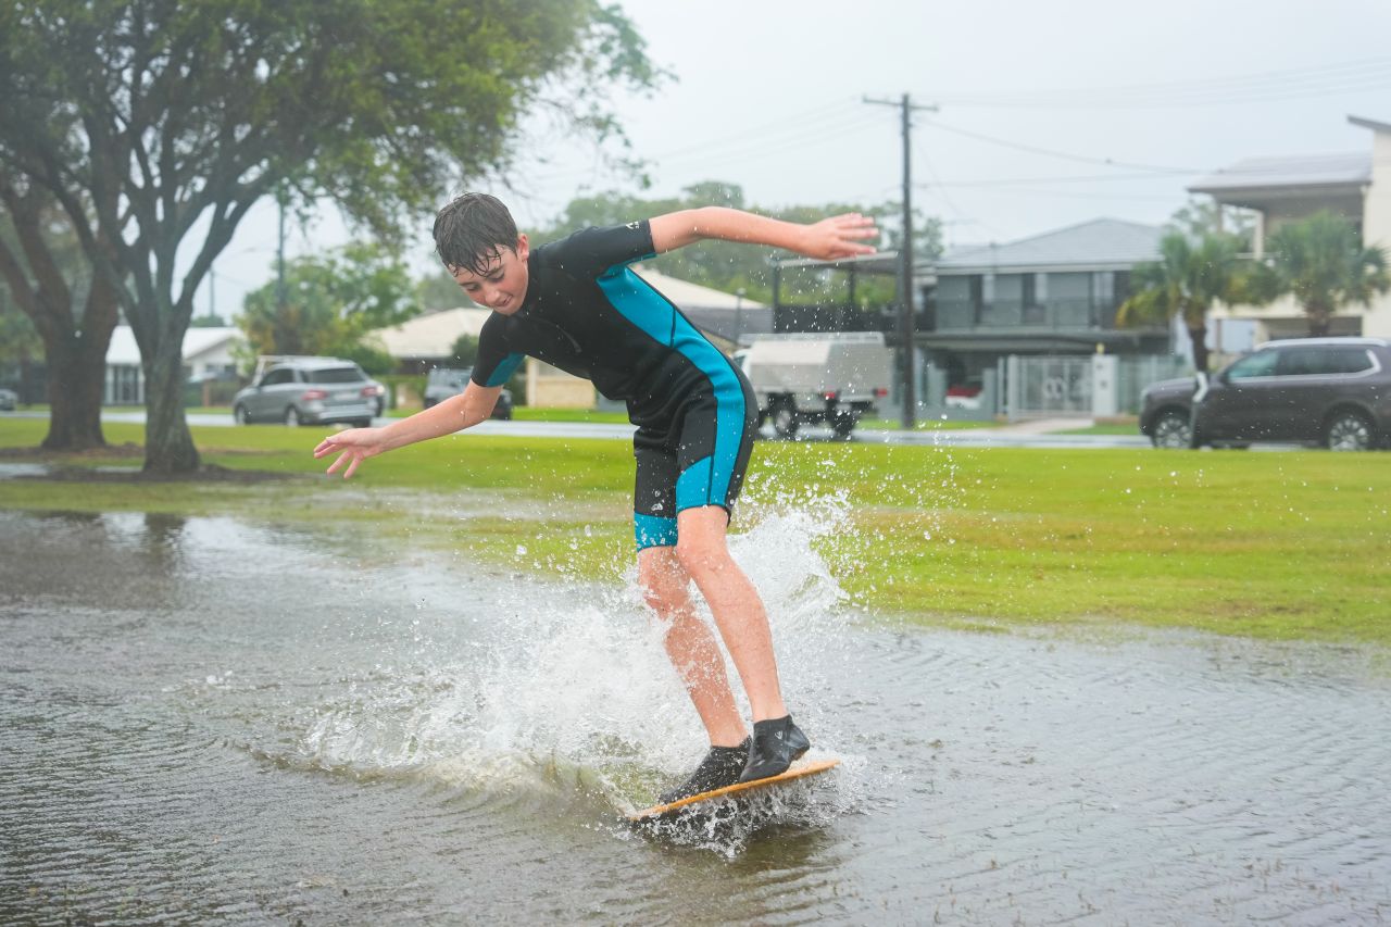
[{"label": "palm tree left of the other palm, above dark SUV's bonnet", "polygon": [[1227,232],[1192,239],[1174,231],[1159,242],[1160,259],[1135,269],[1135,292],[1116,312],[1121,326],[1184,320],[1193,342],[1193,366],[1207,370],[1207,313],[1219,299],[1234,302],[1242,287],[1242,241]]}]

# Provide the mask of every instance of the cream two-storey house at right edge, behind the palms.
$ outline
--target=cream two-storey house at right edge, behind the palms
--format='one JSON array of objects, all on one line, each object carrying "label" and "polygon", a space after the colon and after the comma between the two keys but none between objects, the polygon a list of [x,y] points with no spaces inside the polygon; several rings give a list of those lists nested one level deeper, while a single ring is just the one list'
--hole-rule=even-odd
[{"label": "cream two-storey house at right edge, behind the palms", "polygon": [[[1253,251],[1260,259],[1270,234],[1281,225],[1320,210],[1344,216],[1367,245],[1391,258],[1391,122],[1356,116],[1348,121],[1372,131],[1372,150],[1302,157],[1252,157],[1203,177],[1188,188],[1217,203],[1256,213]],[[1292,296],[1270,306],[1223,306],[1212,327],[1225,320],[1249,320],[1256,341],[1309,333],[1303,309]],[[1391,294],[1369,308],[1346,306],[1331,320],[1331,334],[1391,337]]]}]

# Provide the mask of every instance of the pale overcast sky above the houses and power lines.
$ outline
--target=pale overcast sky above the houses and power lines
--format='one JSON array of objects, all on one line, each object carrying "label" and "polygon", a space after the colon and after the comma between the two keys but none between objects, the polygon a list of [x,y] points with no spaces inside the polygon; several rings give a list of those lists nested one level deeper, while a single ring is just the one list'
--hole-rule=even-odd
[{"label": "pale overcast sky above the houses and power lines", "polygon": [[[702,180],[765,207],[897,199],[899,110],[914,205],[947,244],[1011,241],[1102,216],[1163,223],[1184,187],[1244,157],[1367,152],[1349,114],[1391,121],[1388,0],[800,3],[622,0],[672,79],[619,97],[651,196]],[[638,192],[591,149],[545,141],[505,193],[526,227],[577,195]],[[348,241],[331,209],[288,253]],[[412,263],[430,266],[428,223]],[[216,266],[218,315],[273,276],[257,209]],[[210,287],[198,298],[207,312]]]}]

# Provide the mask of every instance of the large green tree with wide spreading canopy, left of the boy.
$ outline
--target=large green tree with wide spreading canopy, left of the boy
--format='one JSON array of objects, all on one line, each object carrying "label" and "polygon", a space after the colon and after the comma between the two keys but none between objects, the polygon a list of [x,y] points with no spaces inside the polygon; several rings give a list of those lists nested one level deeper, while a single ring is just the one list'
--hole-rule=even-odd
[{"label": "large green tree with wide spreading canopy, left of the boy", "polygon": [[0,159],[47,188],[115,294],[146,379],[146,470],[199,464],[181,404],[193,294],[277,191],[377,234],[504,175],[533,107],[615,129],[648,86],[598,0],[17,0],[0,7]]}]

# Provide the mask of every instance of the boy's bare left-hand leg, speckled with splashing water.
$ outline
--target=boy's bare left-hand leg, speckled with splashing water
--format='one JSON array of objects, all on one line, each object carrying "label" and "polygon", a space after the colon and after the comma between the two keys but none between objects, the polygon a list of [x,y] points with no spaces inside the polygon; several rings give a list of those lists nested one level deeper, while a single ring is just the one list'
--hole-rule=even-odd
[{"label": "boy's bare left-hand leg, speckled with splashing water", "polygon": [[715,636],[696,614],[690,575],[672,547],[647,547],[637,555],[637,582],[665,626],[664,644],[686,683],[711,746],[739,746],[748,735],[725,676]]}]

